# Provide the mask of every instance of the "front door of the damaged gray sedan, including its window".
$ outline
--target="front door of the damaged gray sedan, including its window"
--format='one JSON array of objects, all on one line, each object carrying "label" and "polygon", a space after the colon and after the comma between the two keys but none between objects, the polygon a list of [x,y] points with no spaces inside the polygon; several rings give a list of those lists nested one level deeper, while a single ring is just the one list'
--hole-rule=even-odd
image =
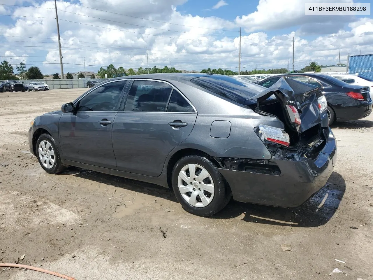
[{"label": "front door of the damaged gray sedan, including its window", "polygon": [[59,140],[64,159],[116,168],[112,128],[126,83],[113,81],[94,88],[74,104],[74,112],[61,116]]}]

